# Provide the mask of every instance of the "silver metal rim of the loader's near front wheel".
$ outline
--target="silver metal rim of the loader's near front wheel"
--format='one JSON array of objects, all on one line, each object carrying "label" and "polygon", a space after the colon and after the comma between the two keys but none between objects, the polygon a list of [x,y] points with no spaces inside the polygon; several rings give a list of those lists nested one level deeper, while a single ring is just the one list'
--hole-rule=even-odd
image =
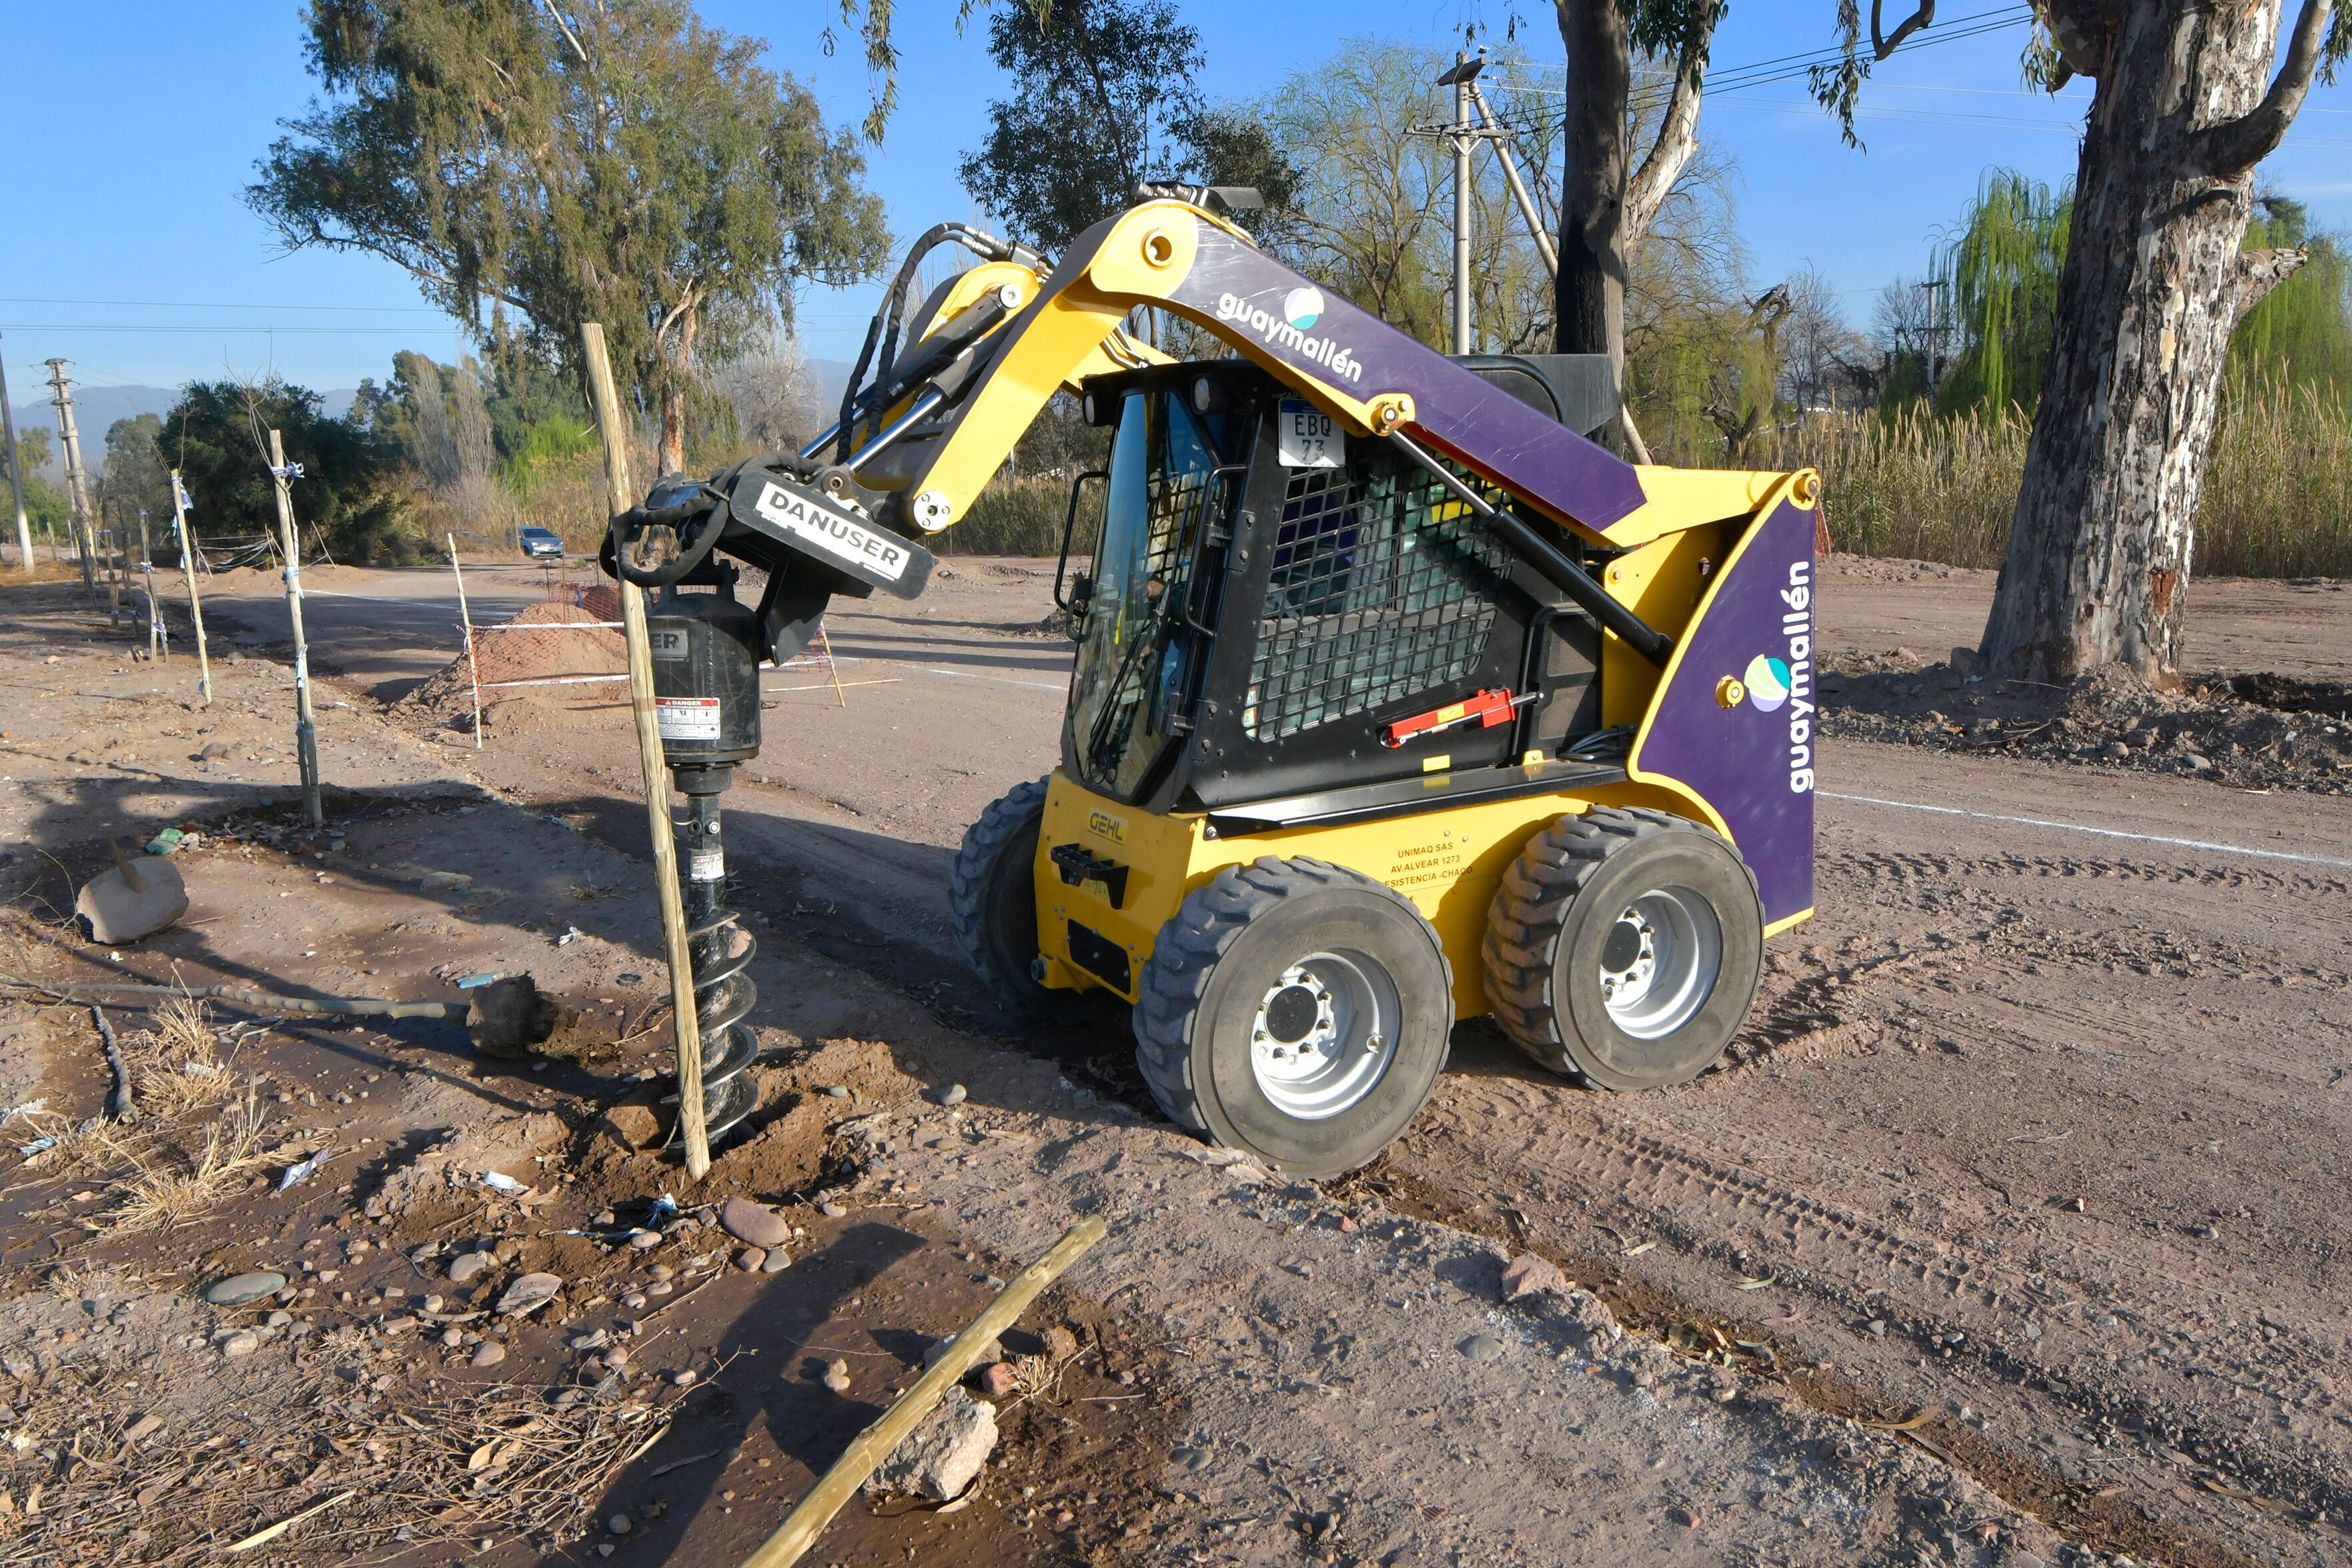
[{"label": "silver metal rim of the loader's near front wheel", "polygon": [[1249,1020],[1249,1072],[1287,1117],[1322,1121],[1357,1105],[1397,1058],[1397,987],[1355,952],[1284,969]]}]

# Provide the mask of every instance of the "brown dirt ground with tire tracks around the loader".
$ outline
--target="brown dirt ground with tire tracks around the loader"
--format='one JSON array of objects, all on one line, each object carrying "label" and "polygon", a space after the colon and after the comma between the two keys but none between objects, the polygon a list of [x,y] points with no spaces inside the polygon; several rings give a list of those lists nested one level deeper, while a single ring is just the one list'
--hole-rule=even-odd
[{"label": "brown dirt ground with tire tracks around the loader", "polygon": [[[633,1145],[661,971],[612,693],[499,698],[475,750],[470,703],[419,701],[459,646],[447,576],[339,574],[308,614],[320,696],[348,703],[322,708],[336,795],[308,832],[270,750],[292,701],[266,585],[214,602],[245,658],[205,712],[181,658],[129,663],[71,590],[12,590],[0,969],[383,997],[527,971],[576,1018],[489,1060],[452,1023],[216,1006],[233,1095],[165,1114],[158,1091],[136,1131],[82,1133],[108,1091],[89,1013],[19,992],[0,1103],[49,1110],[9,1147],[61,1138],[0,1154],[0,1563],[181,1561],[346,1490],[247,1559],[734,1561],[1082,1211],[1112,1234],[1007,1335],[1033,1387],[976,1500],[866,1500],[811,1561],[2352,1556],[2352,806],[2317,769],[2343,755],[2326,717],[2286,748],[2310,736],[2314,766],[2260,783],[2178,743],[1926,738],[1910,682],[2009,701],[1940,663],[1990,574],[1832,559],[1839,668],[1903,684],[1823,748],[1820,914],[1776,940],[1724,1070],[1595,1095],[1465,1023],[1414,1133],[1315,1187],[1157,1124],[1120,1016],[1021,1032],[950,957],[953,844],[1056,755],[1049,583],[950,559],[922,602],[833,618],[840,689],[767,675],[767,750],[727,797],[762,1121],[696,1192]],[[477,614],[555,597],[522,571],[468,590]],[[2204,583],[2190,616],[2197,677],[2352,675],[2352,592]],[[188,919],[122,950],[66,933],[103,837],[165,823],[202,832]],[[134,1074],[191,1077],[143,1039],[167,1020],[108,1011]],[[252,1164],[143,1229],[207,1131]],[[661,1192],[684,1213],[647,1227]],[[710,1229],[739,1192],[804,1232],[781,1274]],[[1576,1284],[1508,1300],[1522,1253]],[[195,1300],[254,1267],[287,1288]],[[562,1293],[496,1316],[527,1272]],[[223,1354],[238,1328],[254,1349]]]}]

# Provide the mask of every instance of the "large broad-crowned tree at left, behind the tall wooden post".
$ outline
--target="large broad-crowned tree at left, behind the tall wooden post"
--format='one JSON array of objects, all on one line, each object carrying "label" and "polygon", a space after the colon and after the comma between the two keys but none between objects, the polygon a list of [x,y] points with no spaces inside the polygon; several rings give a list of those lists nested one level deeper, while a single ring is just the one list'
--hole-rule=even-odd
[{"label": "large broad-crowned tree at left, behind the tall wooden post", "polygon": [[793,284],[887,244],[854,134],[684,0],[310,0],[325,99],[247,200],[289,247],[402,266],[485,343],[616,371],[684,465],[701,367],[790,320]]}]

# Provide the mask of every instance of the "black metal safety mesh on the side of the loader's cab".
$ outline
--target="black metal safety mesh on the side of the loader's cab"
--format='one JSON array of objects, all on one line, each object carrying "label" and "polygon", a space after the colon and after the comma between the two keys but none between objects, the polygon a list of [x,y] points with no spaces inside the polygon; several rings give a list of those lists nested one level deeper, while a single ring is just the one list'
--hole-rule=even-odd
[{"label": "black metal safety mesh on the side of the loader's cab", "polygon": [[1244,729],[1277,741],[1458,682],[1486,649],[1508,562],[1477,512],[1388,447],[1291,473]]}]

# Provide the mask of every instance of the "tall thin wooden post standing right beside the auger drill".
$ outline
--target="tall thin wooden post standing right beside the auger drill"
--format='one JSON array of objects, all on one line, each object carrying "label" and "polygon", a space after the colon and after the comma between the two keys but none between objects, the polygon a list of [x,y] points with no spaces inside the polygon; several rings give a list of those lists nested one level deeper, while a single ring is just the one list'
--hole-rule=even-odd
[{"label": "tall thin wooden post standing right beside the auger drill", "polygon": [[[633,505],[628,482],[628,423],[612,386],[602,322],[581,322],[588,400],[604,440],[604,498],[619,517]],[[694,1016],[694,957],[687,952],[687,905],[677,889],[677,825],[670,820],[670,771],[661,762],[661,719],[654,710],[654,644],[644,630],[644,590],[619,578],[621,637],[628,642],[628,705],[637,722],[637,762],[644,766],[644,823],[654,835],[654,893],[661,898],[661,947],[670,961],[670,1009],[677,1016],[677,1140],[687,1145],[687,1175],[710,1171],[703,1128],[703,1032]]]}]

